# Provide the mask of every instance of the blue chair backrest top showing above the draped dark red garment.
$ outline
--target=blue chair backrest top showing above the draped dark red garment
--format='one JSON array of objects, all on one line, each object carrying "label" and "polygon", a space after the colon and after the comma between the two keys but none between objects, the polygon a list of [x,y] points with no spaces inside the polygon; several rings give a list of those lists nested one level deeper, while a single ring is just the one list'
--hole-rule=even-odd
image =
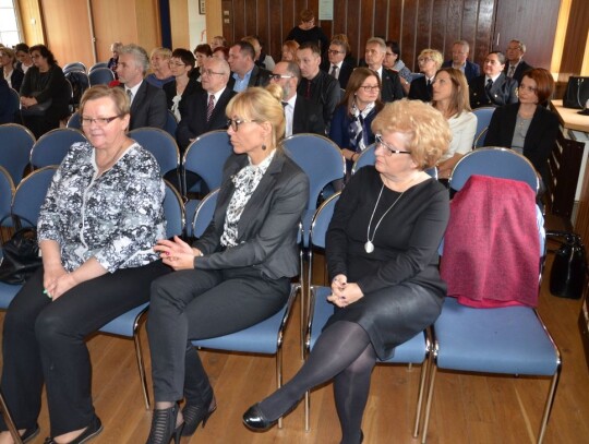
[{"label": "blue chair backrest top showing above the draped dark red garment", "polygon": [[461,190],[472,175],[520,180],[538,192],[536,169],[526,157],[513,149],[486,147],[468,153],[452,170],[449,188]]}]

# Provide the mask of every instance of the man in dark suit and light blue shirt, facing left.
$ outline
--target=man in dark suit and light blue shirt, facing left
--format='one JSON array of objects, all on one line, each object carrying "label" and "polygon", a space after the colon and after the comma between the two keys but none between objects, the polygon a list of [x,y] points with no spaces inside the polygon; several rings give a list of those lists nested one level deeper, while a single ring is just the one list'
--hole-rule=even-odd
[{"label": "man in dark suit and light blue shirt, facing left", "polygon": [[229,88],[241,93],[249,86],[266,86],[269,82],[271,72],[254,63],[255,50],[244,40],[238,41],[229,49],[229,67],[231,77]]}]

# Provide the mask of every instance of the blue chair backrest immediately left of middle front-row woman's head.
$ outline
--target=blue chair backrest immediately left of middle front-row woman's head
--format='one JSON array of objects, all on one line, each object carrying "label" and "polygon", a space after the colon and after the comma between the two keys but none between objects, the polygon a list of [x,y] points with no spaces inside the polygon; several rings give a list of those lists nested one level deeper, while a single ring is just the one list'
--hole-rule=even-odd
[{"label": "blue chair backrest immediately left of middle front-row woman's head", "polygon": [[[205,133],[188,146],[182,159],[183,172],[195,172],[209,190],[219,188],[223,167],[232,152],[233,146],[226,130]],[[185,176],[182,176],[185,191]]]}]

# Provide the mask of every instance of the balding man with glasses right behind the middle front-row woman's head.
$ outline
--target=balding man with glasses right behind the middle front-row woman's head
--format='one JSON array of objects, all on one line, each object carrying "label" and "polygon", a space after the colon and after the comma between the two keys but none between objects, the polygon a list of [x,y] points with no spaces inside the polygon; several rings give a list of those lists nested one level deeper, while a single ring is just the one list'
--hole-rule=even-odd
[{"label": "balding man with glasses right behind the middle front-row woman's head", "polygon": [[286,136],[299,133],[325,135],[322,108],[297,94],[301,70],[294,62],[278,62],[272,71],[272,83],[283,88],[283,106],[286,117]]}]

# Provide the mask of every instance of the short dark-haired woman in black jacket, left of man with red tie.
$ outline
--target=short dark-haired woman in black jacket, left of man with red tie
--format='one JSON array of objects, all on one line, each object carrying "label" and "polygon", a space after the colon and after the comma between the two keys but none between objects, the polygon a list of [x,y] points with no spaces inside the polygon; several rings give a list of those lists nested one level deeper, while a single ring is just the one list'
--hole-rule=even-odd
[{"label": "short dark-haired woman in black jacket, left of man with red tie", "polygon": [[168,99],[168,109],[173,112],[176,119],[182,119],[181,109],[184,98],[201,89],[201,85],[191,77],[194,69],[194,56],[188,49],[177,48],[172,51],[170,70],[176,80],[164,85],[164,92]]}]

